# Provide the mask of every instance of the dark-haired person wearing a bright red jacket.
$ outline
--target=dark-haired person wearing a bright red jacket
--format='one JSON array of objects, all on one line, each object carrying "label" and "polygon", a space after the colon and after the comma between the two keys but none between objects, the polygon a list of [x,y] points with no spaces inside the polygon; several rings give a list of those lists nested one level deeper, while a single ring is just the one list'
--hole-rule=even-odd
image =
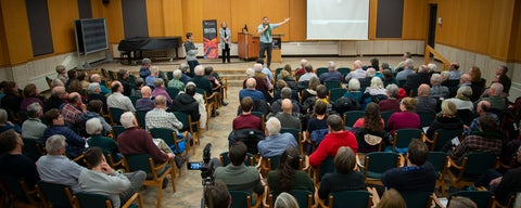
[{"label": "dark-haired person wearing a bright red jacket", "polygon": [[318,167],[328,156],[335,156],[340,146],[350,146],[354,153],[358,151],[358,143],[353,133],[345,131],[342,118],[339,115],[328,117],[329,133],[320,142],[317,151],[309,156],[309,165]]}]

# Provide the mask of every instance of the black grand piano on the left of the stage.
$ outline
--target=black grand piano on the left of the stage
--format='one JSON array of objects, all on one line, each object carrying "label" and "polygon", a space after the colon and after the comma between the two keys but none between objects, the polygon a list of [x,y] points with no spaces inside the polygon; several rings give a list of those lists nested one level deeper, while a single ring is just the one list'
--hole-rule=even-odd
[{"label": "black grand piano on the left of the stage", "polygon": [[[174,51],[176,53],[176,60],[179,60],[178,49],[181,47],[181,37],[156,37],[156,38],[128,38],[119,41],[117,50],[122,52],[122,64],[125,64],[125,60],[128,61],[128,64],[132,64],[135,61],[142,60],[143,53],[148,57],[169,57],[168,52]],[[164,52],[157,55],[158,53],[154,52]]]}]

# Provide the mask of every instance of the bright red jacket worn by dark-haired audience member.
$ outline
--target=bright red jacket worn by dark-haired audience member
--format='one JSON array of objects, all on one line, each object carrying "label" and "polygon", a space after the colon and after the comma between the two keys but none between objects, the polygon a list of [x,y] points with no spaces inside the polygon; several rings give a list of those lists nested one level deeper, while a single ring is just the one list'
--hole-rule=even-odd
[{"label": "bright red jacket worn by dark-haired audience member", "polygon": [[350,131],[332,132],[326,134],[315,153],[309,156],[309,165],[317,167],[322,164],[328,156],[334,157],[341,146],[348,146],[356,154],[358,152],[358,142],[355,134]]}]

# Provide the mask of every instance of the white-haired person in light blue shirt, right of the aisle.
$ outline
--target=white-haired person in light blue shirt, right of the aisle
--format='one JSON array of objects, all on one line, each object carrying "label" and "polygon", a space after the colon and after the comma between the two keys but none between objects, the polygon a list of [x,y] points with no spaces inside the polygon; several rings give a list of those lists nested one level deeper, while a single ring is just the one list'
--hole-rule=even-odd
[{"label": "white-haired person in light blue shirt, right of the aisle", "polygon": [[291,133],[280,133],[279,119],[271,117],[266,121],[266,139],[257,144],[260,157],[274,157],[281,155],[289,147],[298,147],[296,139]]}]

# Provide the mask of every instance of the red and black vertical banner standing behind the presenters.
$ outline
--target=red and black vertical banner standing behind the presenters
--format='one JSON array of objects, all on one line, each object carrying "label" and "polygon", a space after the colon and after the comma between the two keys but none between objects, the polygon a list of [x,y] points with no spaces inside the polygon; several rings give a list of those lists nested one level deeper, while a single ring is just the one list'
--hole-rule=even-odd
[{"label": "red and black vertical banner standing behind the presenters", "polygon": [[217,20],[203,21],[204,58],[218,58]]}]

